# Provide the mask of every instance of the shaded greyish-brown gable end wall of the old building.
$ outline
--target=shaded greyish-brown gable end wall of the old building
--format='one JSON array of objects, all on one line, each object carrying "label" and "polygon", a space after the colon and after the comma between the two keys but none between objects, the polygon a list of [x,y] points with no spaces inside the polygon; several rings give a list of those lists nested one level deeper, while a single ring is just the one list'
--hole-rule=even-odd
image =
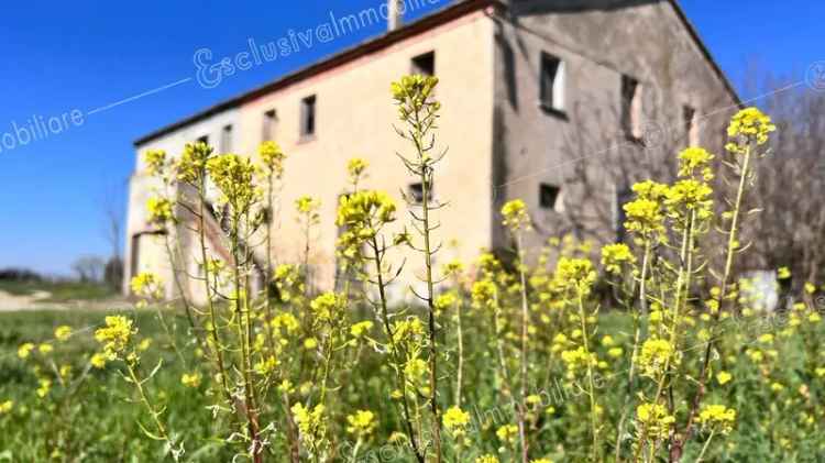
[{"label": "shaded greyish-brown gable end wall of the old building", "polygon": [[[617,189],[650,169],[672,172],[685,147],[682,107],[696,109],[700,143],[714,150],[737,109],[668,1],[514,2],[498,21],[496,45],[497,197],[527,201],[537,225],[530,245],[566,232],[614,240]],[[542,52],[565,64],[563,117],[538,104]],[[620,130],[623,74],[644,86],[646,147]],[[572,183],[582,176],[587,188]],[[539,208],[542,181],[562,186],[557,211]],[[496,243],[507,243],[501,229]]]}]

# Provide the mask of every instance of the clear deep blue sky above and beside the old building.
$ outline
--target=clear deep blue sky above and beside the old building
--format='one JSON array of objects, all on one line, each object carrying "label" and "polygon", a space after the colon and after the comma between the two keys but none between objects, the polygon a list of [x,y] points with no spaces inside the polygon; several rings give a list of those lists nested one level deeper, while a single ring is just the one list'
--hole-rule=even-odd
[{"label": "clear deep blue sky above and beside the old building", "polygon": [[[450,0],[441,0],[443,7]],[[125,208],[132,141],[196,110],[268,81],[383,31],[380,25],[238,73],[211,89],[194,78],[193,56],[215,56],[376,8],[348,1],[7,1],[0,16],[0,136],[33,115],[62,119],[62,133],[9,150],[0,139],[0,267],[68,274],[82,254],[107,255],[105,198]],[[688,15],[735,84],[746,65],[804,78],[825,59],[825,2],[683,0]],[[422,11],[418,11],[418,14]],[[818,48],[818,49],[817,49]],[[750,95],[744,92],[744,98]],[[82,113],[80,122],[72,111]],[[98,110],[95,113],[89,113]],[[65,114],[65,117],[64,117]],[[31,126],[31,125],[30,125]],[[42,126],[42,125],[38,125]],[[23,136],[24,139],[24,136]],[[120,191],[118,194],[118,191]]]}]

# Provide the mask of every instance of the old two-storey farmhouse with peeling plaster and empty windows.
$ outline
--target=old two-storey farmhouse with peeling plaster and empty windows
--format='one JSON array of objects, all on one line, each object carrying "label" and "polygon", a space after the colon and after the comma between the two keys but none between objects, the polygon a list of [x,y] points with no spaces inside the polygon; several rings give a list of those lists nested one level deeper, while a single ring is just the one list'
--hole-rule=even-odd
[{"label": "old two-storey farmhouse with peeling plaster and empty windows", "polygon": [[[513,198],[530,207],[530,247],[564,233],[620,239],[619,205],[629,185],[672,173],[674,150],[718,146],[722,121],[738,108],[675,1],[459,1],[135,142],[127,282],[152,271],[168,282],[168,297],[176,291],[168,231],[145,220],[157,185],[145,175],[142,153],[177,155],[186,143],[206,140],[219,152],[254,154],[274,140],[288,156],[274,254],[300,261],[305,236],[293,205],[305,195],[320,199],[309,264],[315,283],[331,287],[348,159],[366,159],[363,188],[385,190],[399,203],[399,190],[415,197],[420,188],[395,155],[409,146],[393,129],[389,95],[389,82],[411,73],[440,79],[437,145],[449,152],[433,199],[444,203],[436,217],[443,262],[508,246],[498,210]],[[398,229],[405,216],[402,206]],[[220,228],[211,228],[210,249],[220,255]],[[187,271],[197,273],[190,238],[180,241]],[[415,285],[420,256],[396,257],[407,257],[402,279]]]}]

